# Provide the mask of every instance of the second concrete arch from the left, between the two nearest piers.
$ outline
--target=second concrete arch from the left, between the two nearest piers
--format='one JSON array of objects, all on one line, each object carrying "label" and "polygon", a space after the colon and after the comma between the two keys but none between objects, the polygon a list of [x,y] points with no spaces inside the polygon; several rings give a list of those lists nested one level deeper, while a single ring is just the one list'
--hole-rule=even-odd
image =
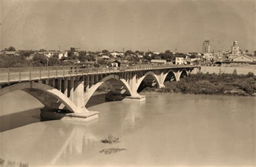
[{"label": "second concrete arch from the left, between the two nearest piers", "polygon": [[125,79],[120,77],[119,75],[111,74],[111,75],[107,75],[106,77],[101,79],[99,82],[97,82],[95,85],[91,86],[91,88],[89,89],[89,92],[85,93],[84,104],[87,104],[87,102],[92,97],[93,93],[99,88],[99,86],[102,85],[104,82],[108,81],[109,79],[116,79],[116,81],[123,84],[123,86],[125,87],[126,91],[129,93],[129,95],[133,96],[134,93],[132,92],[129,84],[125,81]]}]

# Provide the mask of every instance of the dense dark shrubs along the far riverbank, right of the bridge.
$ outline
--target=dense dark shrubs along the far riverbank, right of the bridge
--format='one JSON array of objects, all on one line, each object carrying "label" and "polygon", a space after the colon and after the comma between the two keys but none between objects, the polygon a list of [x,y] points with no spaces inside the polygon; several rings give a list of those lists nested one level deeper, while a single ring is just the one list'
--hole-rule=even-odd
[{"label": "dense dark shrubs along the far riverbank, right of the bridge", "polygon": [[182,93],[193,95],[256,96],[256,76],[233,74],[191,74],[180,81],[167,81],[165,88],[146,87],[142,92]]}]

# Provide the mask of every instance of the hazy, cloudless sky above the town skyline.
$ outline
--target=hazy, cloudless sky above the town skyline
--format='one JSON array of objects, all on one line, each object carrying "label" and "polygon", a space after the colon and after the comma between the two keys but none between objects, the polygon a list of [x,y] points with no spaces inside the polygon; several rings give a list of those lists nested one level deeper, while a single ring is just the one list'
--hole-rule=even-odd
[{"label": "hazy, cloudless sky above the town skyline", "polygon": [[256,50],[254,0],[0,0],[0,18],[0,48]]}]

